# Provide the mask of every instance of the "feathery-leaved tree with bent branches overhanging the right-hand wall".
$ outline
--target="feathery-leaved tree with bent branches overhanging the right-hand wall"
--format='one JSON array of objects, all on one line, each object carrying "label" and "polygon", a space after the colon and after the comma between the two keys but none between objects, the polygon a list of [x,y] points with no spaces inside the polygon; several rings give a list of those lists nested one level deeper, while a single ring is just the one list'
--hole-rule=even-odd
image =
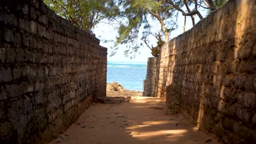
[{"label": "feathery-leaved tree with bent branches overhanging the right-hand wall", "polygon": [[[131,44],[127,46],[128,50],[125,55],[136,53],[142,43],[138,43],[139,28],[143,26],[142,40],[148,46],[148,35],[152,35],[152,26],[148,22],[148,17],[153,20],[158,20],[161,25],[161,32],[165,36],[166,43],[170,39],[171,32],[177,28],[178,12],[184,15],[184,31],[186,25],[186,17],[191,17],[193,26],[195,25],[195,16],[200,20],[203,16],[200,9],[211,11],[218,9],[228,0],[127,0],[120,1],[123,11],[120,14],[123,16],[124,23],[118,28],[118,37],[115,41],[115,46],[119,44]],[[149,46],[148,46],[149,47]],[[149,47],[151,49],[151,47]],[[112,53],[112,55],[114,52]]]}]

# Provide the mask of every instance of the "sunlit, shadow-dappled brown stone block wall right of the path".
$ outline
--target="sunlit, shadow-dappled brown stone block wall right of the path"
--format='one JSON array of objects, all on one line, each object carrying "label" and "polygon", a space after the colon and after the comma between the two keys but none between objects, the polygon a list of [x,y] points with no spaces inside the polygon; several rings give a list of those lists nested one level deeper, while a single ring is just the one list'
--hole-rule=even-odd
[{"label": "sunlit, shadow-dappled brown stone block wall right of the path", "polygon": [[229,1],[163,46],[155,61],[156,95],[181,85],[185,116],[223,143],[256,143],[255,11],[256,1]]}]

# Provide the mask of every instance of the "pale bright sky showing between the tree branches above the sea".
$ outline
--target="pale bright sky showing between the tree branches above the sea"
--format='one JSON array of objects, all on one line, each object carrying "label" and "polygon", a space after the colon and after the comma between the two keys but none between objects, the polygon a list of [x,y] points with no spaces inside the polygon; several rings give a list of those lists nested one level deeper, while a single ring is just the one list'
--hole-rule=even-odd
[{"label": "pale bright sky showing between the tree branches above the sea", "polygon": [[[195,21],[198,22],[199,18],[196,16]],[[158,32],[161,29],[160,23],[158,21],[151,21],[154,25],[153,29],[155,32]],[[170,38],[177,37],[179,34],[183,33],[183,25],[184,25],[184,16],[181,13],[178,15],[178,28],[173,31],[170,35]],[[191,18],[187,17],[186,23],[186,31],[192,27]],[[142,31],[142,30],[141,30]],[[94,33],[98,39],[101,40],[100,45],[108,48],[108,61],[115,61],[115,62],[147,62],[148,57],[153,57],[151,54],[151,50],[146,46],[142,46],[139,49],[140,53],[137,53],[136,57],[131,59],[130,57],[124,56],[125,45],[120,45],[117,54],[110,57],[109,54],[111,50],[109,49],[113,43],[103,43],[104,39],[107,40],[115,40],[115,37],[118,35],[117,30],[112,26],[107,24],[106,22],[100,22],[94,29]],[[154,37],[150,38],[149,45],[156,46],[156,39]]]}]

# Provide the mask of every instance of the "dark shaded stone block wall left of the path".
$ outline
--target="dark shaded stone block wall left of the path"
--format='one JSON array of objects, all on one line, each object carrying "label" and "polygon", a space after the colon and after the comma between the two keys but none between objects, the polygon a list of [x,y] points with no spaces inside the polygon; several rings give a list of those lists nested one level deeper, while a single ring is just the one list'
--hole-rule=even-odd
[{"label": "dark shaded stone block wall left of the path", "polygon": [[42,1],[0,1],[0,143],[43,143],[106,96],[107,49]]}]

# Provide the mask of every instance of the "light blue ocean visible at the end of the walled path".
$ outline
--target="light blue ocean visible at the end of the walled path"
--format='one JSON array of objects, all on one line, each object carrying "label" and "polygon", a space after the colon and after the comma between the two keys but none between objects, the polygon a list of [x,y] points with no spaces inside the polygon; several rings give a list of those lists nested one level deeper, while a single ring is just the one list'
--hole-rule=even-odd
[{"label": "light blue ocean visible at the end of the walled path", "polygon": [[118,82],[125,89],[143,91],[147,62],[108,62],[107,82]]}]

